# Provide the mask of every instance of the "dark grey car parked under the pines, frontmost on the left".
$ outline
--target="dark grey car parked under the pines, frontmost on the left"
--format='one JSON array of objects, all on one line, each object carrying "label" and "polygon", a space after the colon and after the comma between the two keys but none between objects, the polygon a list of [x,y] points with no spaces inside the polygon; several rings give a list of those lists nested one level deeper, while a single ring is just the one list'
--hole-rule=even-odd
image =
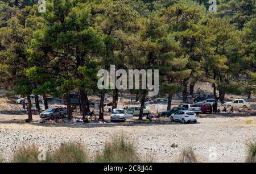
[{"label": "dark grey car parked under the pines, frontmost on the left", "polygon": [[67,117],[67,109],[64,107],[49,107],[47,110],[40,113],[40,118],[55,119]]}]

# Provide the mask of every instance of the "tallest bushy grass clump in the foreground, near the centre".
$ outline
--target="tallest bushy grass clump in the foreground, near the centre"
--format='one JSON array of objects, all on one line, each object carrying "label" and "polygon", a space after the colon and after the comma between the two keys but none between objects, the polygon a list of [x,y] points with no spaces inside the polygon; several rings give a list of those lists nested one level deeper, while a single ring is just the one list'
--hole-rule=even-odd
[{"label": "tallest bushy grass clump in the foreground, near the centre", "polygon": [[117,136],[104,146],[102,153],[96,155],[97,163],[135,163],[141,162],[132,142],[124,136]]}]

